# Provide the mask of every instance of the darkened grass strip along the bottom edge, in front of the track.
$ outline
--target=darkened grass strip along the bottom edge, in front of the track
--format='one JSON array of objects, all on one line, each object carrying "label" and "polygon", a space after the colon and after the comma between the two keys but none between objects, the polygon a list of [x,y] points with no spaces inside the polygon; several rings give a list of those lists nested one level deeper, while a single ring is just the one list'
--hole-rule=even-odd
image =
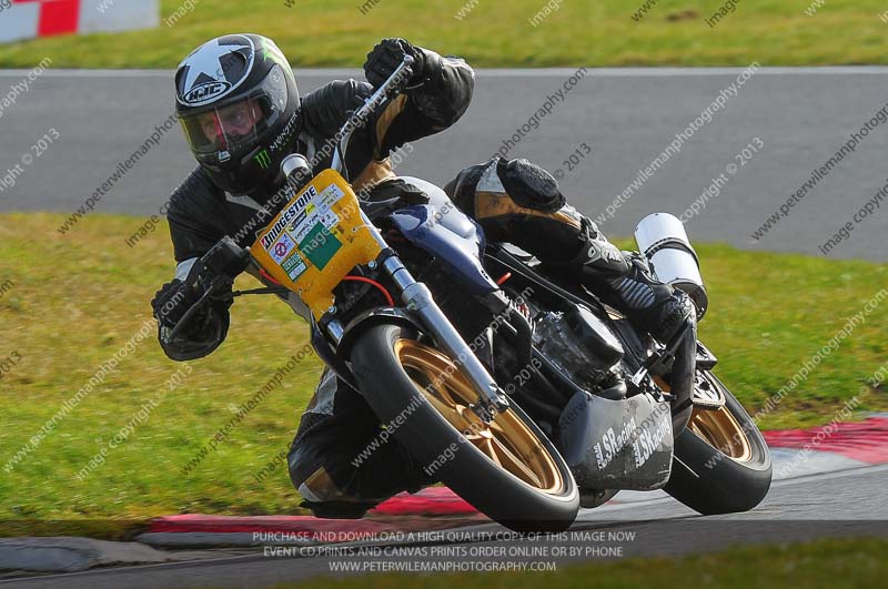
[{"label": "darkened grass strip along the bottom edge, in front of the track", "polygon": [[[713,587],[748,589],[884,587],[888,540],[830,539],[731,548],[685,558],[645,557],[615,562],[559,565],[555,572],[364,575],[322,577],[274,589],[637,589]],[[408,585],[407,585],[408,583]],[[272,588],[269,588],[272,589]]]}]

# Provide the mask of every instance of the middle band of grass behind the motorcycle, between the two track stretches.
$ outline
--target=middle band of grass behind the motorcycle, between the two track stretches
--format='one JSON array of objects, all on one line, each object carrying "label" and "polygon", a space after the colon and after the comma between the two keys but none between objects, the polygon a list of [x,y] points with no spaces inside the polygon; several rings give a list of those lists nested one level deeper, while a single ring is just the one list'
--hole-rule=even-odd
[{"label": "middle band of grass behind the motorcycle, between the two track stretches", "polygon": [[[149,301],[172,274],[165,226],[130,248],[141,219],[93,214],[72,233],[59,214],[0,215],[0,358],[20,363],[0,379],[0,469],[150,316]],[[702,245],[712,311],[703,338],[719,374],[755,409],[886,286],[885,265]],[[244,278],[240,286],[255,284]],[[828,422],[888,358],[888,301],[828,356],[764,427]],[[191,474],[182,466],[306,341],[304,322],[270,297],[233,307],[228,342],[169,393],[147,423],[85,480],[74,478],[153,398],[181,365],[153,335],[127,356],[39,448],[0,470],[0,521],[140,519],[162,514],[292,514],[297,497],[284,468],[260,470],[293,436],[321,370],[310,358],[236,426]],[[881,393],[860,410],[888,407]]]}]

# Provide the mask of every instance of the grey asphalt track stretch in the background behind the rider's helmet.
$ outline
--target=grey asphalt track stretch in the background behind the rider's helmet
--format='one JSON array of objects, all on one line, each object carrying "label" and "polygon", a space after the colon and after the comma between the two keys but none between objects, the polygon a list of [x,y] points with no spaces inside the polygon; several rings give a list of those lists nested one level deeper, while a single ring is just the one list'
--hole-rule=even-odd
[{"label": "grey asphalt track stretch in the background behind the rider's helmet", "polygon": [[[733,95],[726,89],[740,71],[588,70],[569,92],[549,102],[551,113],[534,121],[538,129],[525,128],[529,132],[508,156],[561,170],[565,194],[595,217],[722,94],[727,97],[724,108],[710,111],[712,122],[693,132],[680,151],[634,191],[604,223],[605,233],[630,235],[635,223],[650,212],[680,214],[725,174],[727,183],[709,190],[706,207],[687,222],[692,240],[823,255],[818,246],[888,182],[888,124],[876,125],[801,202],[786,207],[788,216],[761,240],[751,234],[886,104],[888,68],[760,69]],[[405,150],[398,171],[442,183],[464,165],[486,160],[575,72],[480,71],[464,119]],[[23,74],[0,71],[0,93]],[[297,74],[303,93],[334,78],[361,75],[349,70]],[[172,109],[167,71],[47,71],[0,119],[0,172],[19,162],[48,129],[56,129],[59,139],[14,186],[0,192],[0,212],[73,212]],[[579,159],[583,143],[592,148],[592,155]],[[746,158],[741,152],[750,143],[761,146],[747,151],[751,156]],[[575,165],[566,163],[572,154]],[[731,163],[738,167],[728,174]],[[95,210],[155,213],[192,166],[181,132],[173,129]],[[878,205],[830,256],[888,257],[888,199]]]}]

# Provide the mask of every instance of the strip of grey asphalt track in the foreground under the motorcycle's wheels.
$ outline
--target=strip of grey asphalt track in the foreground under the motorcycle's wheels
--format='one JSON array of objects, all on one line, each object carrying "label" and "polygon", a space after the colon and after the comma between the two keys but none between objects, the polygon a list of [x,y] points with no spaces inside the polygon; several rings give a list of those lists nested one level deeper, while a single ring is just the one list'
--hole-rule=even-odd
[{"label": "strip of grey asphalt track in the foreground under the motorcycle's wheels", "polygon": [[[432,547],[437,546],[446,547],[451,552],[465,550],[467,554],[506,555],[462,559],[476,562],[497,559],[504,562],[555,561],[561,570],[572,561],[601,560],[603,557],[596,556],[596,552],[586,556],[586,548],[596,547],[599,549],[597,555],[609,554],[612,555],[609,558],[628,558],[725,550],[736,545],[805,541],[821,537],[886,537],[888,536],[888,506],[884,501],[886,476],[888,466],[884,465],[777,481],[758,508],[747,514],[731,516],[700,517],[668,497],[605,506],[597,510],[585,509],[568,532],[566,541],[502,539],[508,536],[505,528],[487,525],[472,528],[472,531],[478,536],[487,532],[487,537],[493,538],[493,541],[437,542],[432,546],[425,542],[425,546],[428,552]],[[596,532],[603,532],[605,536],[596,536]],[[608,536],[609,532],[617,535],[616,538],[610,539],[613,537]],[[422,544],[414,545],[414,548]],[[387,546],[391,547],[392,544]],[[402,546],[407,548],[406,545]],[[574,558],[531,556],[532,549],[538,550],[543,546],[548,546],[549,549],[553,546],[565,546],[568,550],[569,547],[579,547],[583,556]],[[602,552],[604,548],[609,548],[610,552]],[[619,548],[619,556],[613,551],[616,548]],[[508,556],[511,550],[513,552],[524,550],[525,556]],[[9,589],[18,587],[29,589],[260,588],[283,581],[332,575],[330,562],[344,560],[373,561],[367,558],[343,558],[335,555],[313,558],[266,557],[262,551],[258,551],[252,555],[208,558],[188,563],[97,569],[80,573],[0,581],[0,587]],[[416,562],[442,561],[446,558],[386,556],[377,560]]]}]

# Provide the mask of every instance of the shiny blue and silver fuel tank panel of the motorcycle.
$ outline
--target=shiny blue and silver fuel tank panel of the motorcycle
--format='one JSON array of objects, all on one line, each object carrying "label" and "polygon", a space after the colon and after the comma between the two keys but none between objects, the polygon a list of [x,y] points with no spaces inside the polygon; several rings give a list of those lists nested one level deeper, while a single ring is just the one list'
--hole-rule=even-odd
[{"label": "shiny blue and silver fuel tank panel of the motorcycle", "polygon": [[484,232],[446,196],[445,201],[436,195],[432,204],[400,209],[392,213],[392,221],[411,243],[441,260],[473,294],[498,291],[481,265]]}]

